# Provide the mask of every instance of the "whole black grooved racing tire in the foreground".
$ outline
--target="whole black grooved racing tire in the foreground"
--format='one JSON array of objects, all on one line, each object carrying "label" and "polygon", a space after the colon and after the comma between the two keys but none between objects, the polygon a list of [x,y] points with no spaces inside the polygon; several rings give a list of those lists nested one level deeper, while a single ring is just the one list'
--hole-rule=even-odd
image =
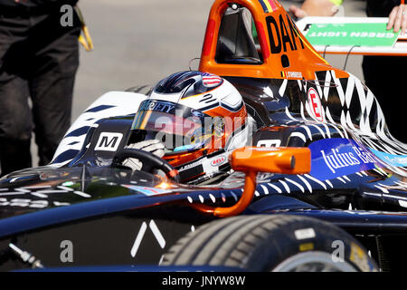
[{"label": "whole black grooved racing tire in the foreground", "polygon": [[230,266],[256,272],[377,271],[364,247],[341,228],[290,215],[215,220],[180,238],[161,265]]}]

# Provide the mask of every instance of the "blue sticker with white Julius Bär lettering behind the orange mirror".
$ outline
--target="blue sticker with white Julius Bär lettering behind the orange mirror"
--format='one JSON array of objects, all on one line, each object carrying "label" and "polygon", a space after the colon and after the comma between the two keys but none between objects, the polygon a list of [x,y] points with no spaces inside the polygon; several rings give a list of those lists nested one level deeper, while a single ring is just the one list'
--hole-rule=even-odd
[{"label": "blue sticker with white Julius B\u00e4r lettering behind the orange mirror", "polygon": [[335,179],[381,165],[373,154],[354,140],[334,138],[311,143],[311,175],[317,179]]}]

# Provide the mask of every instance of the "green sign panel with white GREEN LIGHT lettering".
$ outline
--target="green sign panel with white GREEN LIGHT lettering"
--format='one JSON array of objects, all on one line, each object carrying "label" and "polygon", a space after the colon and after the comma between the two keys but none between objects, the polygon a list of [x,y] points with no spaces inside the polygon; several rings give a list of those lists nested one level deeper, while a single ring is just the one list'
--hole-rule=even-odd
[{"label": "green sign panel with white GREEN LIGHT lettering", "polygon": [[387,24],[311,24],[306,35],[313,45],[390,46],[400,32],[386,30]]}]

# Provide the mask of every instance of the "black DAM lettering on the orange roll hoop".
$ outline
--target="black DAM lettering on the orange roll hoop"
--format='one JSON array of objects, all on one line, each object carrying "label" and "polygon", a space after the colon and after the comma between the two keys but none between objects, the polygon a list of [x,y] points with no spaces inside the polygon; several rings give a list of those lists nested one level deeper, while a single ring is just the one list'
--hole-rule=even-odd
[{"label": "black DAM lettering on the orange roll hoop", "polygon": [[280,14],[278,20],[271,15],[267,16],[266,23],[271,53],[287,53],[287,51],[304,49],[304,43],[299,37],[297,27],[291,22],[288,14],[286,19]]}]

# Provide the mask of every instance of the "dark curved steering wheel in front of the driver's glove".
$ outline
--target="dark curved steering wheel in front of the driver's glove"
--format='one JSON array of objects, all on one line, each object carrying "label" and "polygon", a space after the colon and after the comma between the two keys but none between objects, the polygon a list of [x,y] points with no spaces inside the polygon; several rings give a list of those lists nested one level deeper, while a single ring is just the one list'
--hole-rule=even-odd
[{"label": "dark curved steering wheel in front of the driver's glove", "polygon": [[163,170],[166,173],[168,179],[173,179],[175,182],[180,182],[180,177],[178,170],[176,170],[171,164],[166,160],[159,158],[153,153],[147,152],[145,150],[138,149],[122,149],[116,153],[113,159],[112,166],[116,167],[121,165],[121,162],[128,158],[134,158],[143,163],[141,171],[153,173],[157,169]]}]

